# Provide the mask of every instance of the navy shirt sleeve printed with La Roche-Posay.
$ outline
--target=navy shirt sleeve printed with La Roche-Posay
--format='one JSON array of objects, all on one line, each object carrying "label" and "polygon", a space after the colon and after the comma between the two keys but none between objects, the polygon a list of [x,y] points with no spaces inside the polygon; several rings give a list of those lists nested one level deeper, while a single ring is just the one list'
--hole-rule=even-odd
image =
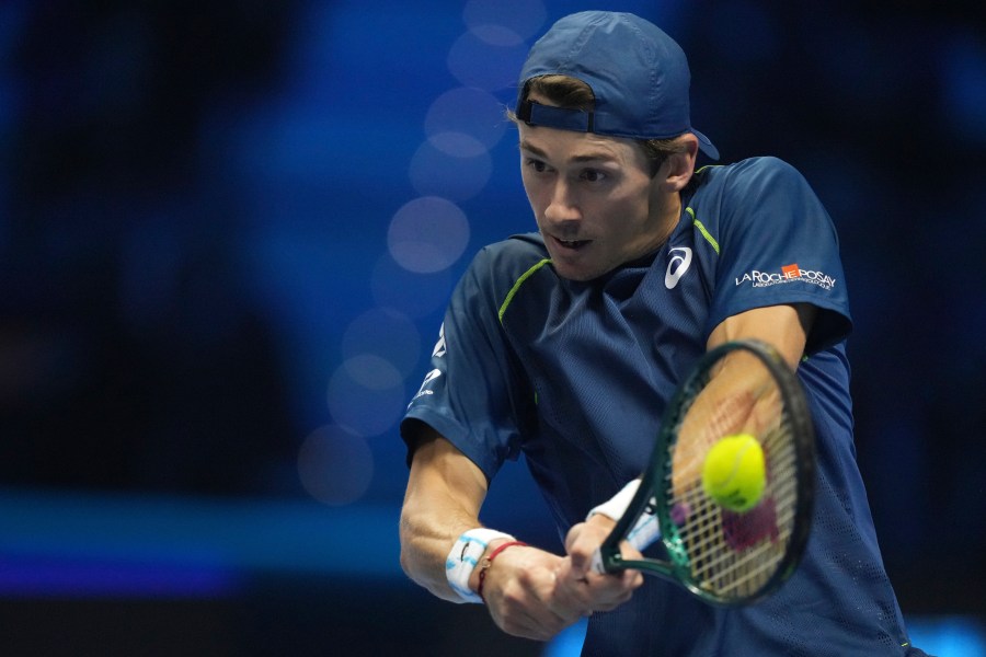
[{"label": "navy shirt sleeve printed with La Roche-Posay", "polygon": [[731,168],[718,198],[720,262],[709,332],[754,308],[805,302],[819,312],[806,351],[851,330],[838,237],[804,177],[776,158]]}]

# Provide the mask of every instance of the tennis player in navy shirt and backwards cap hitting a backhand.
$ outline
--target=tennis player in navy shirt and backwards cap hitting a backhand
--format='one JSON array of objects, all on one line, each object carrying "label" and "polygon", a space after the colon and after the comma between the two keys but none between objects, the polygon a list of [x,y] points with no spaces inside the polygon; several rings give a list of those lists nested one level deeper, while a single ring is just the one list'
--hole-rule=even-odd
[{"label": "tennis player in navy shirt and backwards cap hitting a backhand", "polygon": [[[484,602],[517,636],[549,639],[589,615],[584,655],[921,655],[855,461],[833,223],[780,160],[696,170],[699,151],[719,153],[691,126],[689,82],[680,47],[631,14],[566,16],[531,48],[513,118],[538,232],[475,256],[401,424],[404,570],[446,600]],[[738,609],[592,572],[669,395],[703,351],[747,337],[798,368],[816,425],[800,568]],[[521,453],[565,554],[480,520]]]}]

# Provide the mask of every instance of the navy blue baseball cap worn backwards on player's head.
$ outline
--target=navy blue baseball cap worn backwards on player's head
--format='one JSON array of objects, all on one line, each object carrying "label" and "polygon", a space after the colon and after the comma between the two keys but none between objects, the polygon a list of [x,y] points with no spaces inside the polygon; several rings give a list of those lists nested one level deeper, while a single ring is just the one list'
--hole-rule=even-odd
[{"label": "navy blue baseball cap worn backwards on player's head", "polygon": [[[567,76],[589,85],[593,112],[526,101],[527,82]],[[670,139],[692,132],[699,148],[719,150],[691,127],[688,59],[660,27],[630,13],[584,11],[559,20],[538,39],[520,70],[516,115],[535,126],[630,139]]]}]

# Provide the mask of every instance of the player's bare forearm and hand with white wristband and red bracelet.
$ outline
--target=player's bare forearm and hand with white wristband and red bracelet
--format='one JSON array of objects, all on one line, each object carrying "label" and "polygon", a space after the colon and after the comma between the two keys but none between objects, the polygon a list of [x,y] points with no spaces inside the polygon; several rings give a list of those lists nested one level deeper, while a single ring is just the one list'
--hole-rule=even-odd
[{"label": "player's bare forearm and hand with white wristband and red bracelet", "polygon": [[[434,429],[423,427],[411,461],[401,509],[401,566],[411,579],[445,600],[461,601],[446,579],[449,551],[463,532],[481,527],[486,496],[482,471]],[[506,539],[489,542],[483,564]],[[585,609],[555,600],[557,572],[563,557],[531,546],[511,546],[485,572],[483,597],[504,632],[547,641],[577,621]],[[469,589],[479,589],[477,567]]]}]

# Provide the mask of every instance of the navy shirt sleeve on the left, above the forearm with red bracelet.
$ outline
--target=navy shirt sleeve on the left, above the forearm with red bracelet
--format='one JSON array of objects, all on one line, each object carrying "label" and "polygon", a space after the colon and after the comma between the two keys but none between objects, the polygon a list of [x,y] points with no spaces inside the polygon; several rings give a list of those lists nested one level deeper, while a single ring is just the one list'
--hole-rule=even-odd
[{"label": "navy shirt sleeve on the left, above the forearm with red bracelet", "polygon": [[500,324],[496,251],[481,251],[452,292],[431,369],[401,423],[409,463],[417,423],[449,440],[488,480],[519,454],[518,406],[528,387]]}]

